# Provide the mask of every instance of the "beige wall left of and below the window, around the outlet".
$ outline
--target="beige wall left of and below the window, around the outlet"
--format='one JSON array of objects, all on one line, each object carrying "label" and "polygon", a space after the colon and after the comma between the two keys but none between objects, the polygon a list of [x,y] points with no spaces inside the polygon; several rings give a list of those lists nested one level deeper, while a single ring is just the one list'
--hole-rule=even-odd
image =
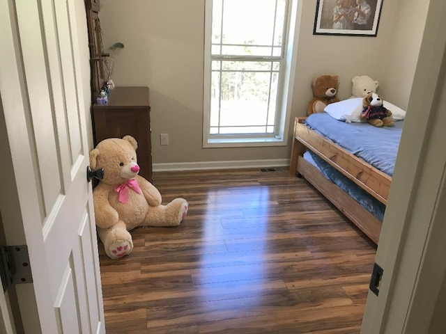
[{"label": "beige wall left of and below the window, around the outlet", "polygon": [[202,148],[204,0],[104,0],[100,20],[104,45],[125,45],[116,86],[150,87],[154,164],[289,157],[285,146]]}]

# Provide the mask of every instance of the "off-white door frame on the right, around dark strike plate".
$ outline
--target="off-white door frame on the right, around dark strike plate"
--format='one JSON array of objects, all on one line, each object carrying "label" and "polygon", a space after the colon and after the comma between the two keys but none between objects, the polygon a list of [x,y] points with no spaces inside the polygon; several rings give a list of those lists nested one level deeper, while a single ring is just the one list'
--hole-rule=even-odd
[{"label": "off-white door frame on the right, around dark strike plate", "polygon": [[446,333],[436,317],[446,277],[446,34],[444,0],[431,0],[404,122],[364,334]]}]

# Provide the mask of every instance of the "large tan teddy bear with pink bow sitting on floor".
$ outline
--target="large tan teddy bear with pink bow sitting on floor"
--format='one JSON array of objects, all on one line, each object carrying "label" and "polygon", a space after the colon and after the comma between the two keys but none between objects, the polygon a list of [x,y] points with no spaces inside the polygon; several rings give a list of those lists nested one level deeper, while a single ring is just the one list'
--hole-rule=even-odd
[{"label": "large tan teddy bear with pink bow sitting on floor", "polygon": [[98,235],[112,259],[132,252],[130,230],[138,226],[177,226],[187,214],[187,201],[161,204],[161,194],[138,175],[137,141],[132,136],[108,138],[90,152],[90,167],[104,168],[93,190]]}]

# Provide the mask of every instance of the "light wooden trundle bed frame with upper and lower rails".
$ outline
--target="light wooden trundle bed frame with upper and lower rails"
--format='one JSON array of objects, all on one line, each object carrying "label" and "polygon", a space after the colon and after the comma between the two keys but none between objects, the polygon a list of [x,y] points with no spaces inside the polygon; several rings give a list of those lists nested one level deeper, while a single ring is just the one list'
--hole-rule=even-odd
[{"label": "light wooden trundle bed frame with upper and lower rails", "polygon": [[306,150],[312,150],[332,167],[344,174],[383,204],[387,204],[392,177],[367,164],[364,160],[324,138],[305,124],[306,117],[296,117],[294,122],[293,148],[290,173],[302,175],[325,198],[330,200],[375,244],[378,244],[381,221],[353,200],[336,184],[326,179],[317,168],[303,158]]}]

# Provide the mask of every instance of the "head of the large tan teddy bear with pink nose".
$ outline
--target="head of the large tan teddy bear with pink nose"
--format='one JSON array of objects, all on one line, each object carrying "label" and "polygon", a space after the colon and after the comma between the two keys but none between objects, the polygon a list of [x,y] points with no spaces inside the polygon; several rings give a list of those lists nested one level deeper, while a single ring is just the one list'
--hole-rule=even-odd
[{"label": "head of the large tan teddy bear with pink nose", "polygon": [[[105,184],[118,185],[139,173],[136,148],[133,137],[123,139],[108,138],[96,145],[90,152],[90,166],[93,169],[104,168]],[[132,143],[134,141],[134,145]]]}]

